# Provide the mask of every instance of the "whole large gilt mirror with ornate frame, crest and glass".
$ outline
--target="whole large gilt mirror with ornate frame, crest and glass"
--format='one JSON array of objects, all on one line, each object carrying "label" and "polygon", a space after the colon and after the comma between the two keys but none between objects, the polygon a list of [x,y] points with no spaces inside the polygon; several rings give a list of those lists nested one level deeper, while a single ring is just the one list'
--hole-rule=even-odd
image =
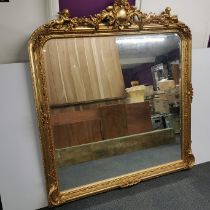
[{"label": "whole large gilt mirror with ornate frame, crest and glass", "polygon": [[191,32],[126,0],[39,27],[29,57],[51,206],[191,168]]}]

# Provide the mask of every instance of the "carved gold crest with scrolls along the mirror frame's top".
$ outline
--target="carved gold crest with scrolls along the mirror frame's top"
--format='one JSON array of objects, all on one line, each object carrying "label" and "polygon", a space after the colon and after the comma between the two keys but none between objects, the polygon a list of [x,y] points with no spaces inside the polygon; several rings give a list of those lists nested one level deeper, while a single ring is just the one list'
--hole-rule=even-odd
[{"label": "carved gold crest with scrolls along the mirror frame's top", "polygon": [[170,24],[178,23],[177,16],[171,15],[169,7],[160,15],[146,14],[130,5],[128,0],[116,0],[113,6],[109,6],[101,13],[90,17],[70,18],[68,9],[58,14],[59,18],[51,21],[48,25],[52,30],[68,31],[78,27],[89,27],[98,30],[104,25],[119,30],[129,28],[132,25],[141,29],[144,25],[150,24],[168,27]]}]

